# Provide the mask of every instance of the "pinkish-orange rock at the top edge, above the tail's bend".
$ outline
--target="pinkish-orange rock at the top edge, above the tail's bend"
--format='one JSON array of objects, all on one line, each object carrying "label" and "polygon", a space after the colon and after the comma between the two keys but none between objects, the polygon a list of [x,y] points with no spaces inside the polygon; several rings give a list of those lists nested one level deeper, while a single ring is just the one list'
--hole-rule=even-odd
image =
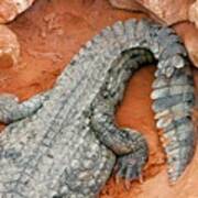
[{"label": "pinkish-orange rock at the top edge, above the tail's bend", "polygon": [[113,7],[146,12],[154,20],[168,25],[188,20],[188,9],[194,1],[195,0],[110,0]]}]

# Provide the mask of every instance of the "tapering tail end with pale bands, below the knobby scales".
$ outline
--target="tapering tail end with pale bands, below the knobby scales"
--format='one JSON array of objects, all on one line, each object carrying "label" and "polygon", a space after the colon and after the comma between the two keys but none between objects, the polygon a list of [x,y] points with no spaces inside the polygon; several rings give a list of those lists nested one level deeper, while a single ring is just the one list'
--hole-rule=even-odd
[{"label": "tapering tail end with pale bands, below the knobby scales", "polygon": [[154,100],[156,127],[163,131],[161,140],[167,156],[168,177],[174,184],[194,155],[191,110],[195,96],[188,63],[170,77],[157,75],[151,97]]}]

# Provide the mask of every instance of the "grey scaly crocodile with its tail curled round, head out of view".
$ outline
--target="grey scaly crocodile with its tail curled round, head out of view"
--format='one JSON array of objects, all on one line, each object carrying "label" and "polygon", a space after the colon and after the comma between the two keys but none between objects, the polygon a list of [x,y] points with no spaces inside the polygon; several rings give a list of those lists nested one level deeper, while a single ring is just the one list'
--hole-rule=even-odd
[{"label": "grey scaly crocodile with its tail curled round, head out of view", "polygon": [[139,179],[147,143],[135,129],[119,128],[114,113],[132,74],[151,63],[152,108],[175,183],[195,147],[190,62],[172,29],[130,19],[88,41],[50,90],[23,102],[1,95],[0,197],[94,198],[114,167],[125,184]]}]

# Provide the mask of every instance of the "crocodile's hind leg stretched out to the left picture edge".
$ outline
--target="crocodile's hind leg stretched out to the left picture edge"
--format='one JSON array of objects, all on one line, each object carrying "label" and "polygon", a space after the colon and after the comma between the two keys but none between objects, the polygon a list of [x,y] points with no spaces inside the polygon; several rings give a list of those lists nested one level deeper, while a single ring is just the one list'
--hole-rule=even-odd
[{"label": "crocodile's hind leg stretched out to the left picture edge", "polygon": [[0,95],[0,122],[11,123],[33,114],[42,107],[43,101],[48,96],[50,91],[37,94],[20,103],[18,97],[14,95]]}]

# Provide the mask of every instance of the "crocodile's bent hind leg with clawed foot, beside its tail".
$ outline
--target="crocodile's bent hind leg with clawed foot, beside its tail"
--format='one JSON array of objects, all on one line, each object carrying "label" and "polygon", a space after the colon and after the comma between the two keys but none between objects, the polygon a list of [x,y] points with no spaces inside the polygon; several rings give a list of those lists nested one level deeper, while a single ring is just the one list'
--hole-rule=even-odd
[{"label": "crocodile's bent hind leg with clawed foot, beside its tail", "polygon": [[129,180],[141,176],[147,160],[147,144],[141,133],[132,129],[119,129],[114,124],[114,110],[110,103],[100,100],[92,110],[91,127],[102,144],[118,155],[117,177]]}]

